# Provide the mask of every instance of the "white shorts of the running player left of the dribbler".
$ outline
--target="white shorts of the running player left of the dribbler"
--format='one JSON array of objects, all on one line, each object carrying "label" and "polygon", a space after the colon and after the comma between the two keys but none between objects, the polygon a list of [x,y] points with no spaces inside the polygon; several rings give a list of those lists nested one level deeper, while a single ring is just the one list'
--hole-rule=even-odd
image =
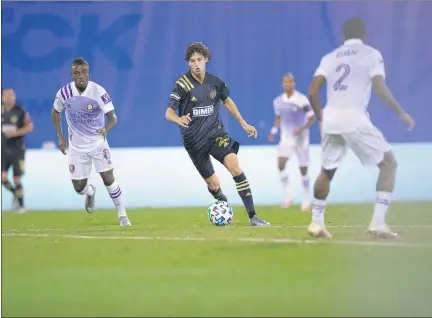
[{"label": "white shorts of the running player left of the dribbler", "polygon": [[68,161],[72,180],[88,179],[91,175],[92,163],[94,163],[97,173],[114,168],[111,151],[106,140],[91,151],[78,151],[69,147]]}]

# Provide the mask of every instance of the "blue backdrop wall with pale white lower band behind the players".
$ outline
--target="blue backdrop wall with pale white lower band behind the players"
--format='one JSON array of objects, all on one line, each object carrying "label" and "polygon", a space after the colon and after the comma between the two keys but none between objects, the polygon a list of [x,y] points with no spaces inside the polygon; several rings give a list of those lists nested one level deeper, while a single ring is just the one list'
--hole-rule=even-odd
[{"label": "blue backdrop wall with pale white lower band behind the players", "polygon": [[[185,48],[194,41],[212,50],[208,70],[226,81],[243,116],[260,133],[258,140],[248,139],[228,113],[222,113],[230,134],[245,145],[240,159],[256,201],[278,203],[276,151],[267,134],[281,76],[292,72],[298,89],[306,91],[320,57],[340,44],[341,26],[352,16],[365,20],[368,42],[384,56],[390,88],[417,123],[408,133],[391,111],[372,99],[373,121],[395,144],[400,164],[396,199],[431,199],[430,2],[2,3],[2,87],[16,90],[35,123],[27,137],[28,208],[82,206],[70,185],[66,158],[55,150],[41,150],[44,142],[56,141],[52,101],[70,81],[70,62],[76,56],[90,62],[91,80],[104,86],[114,101],[119,124],[109,142],[126,204],[184,206],[210,201],[181,148],[178,128],[164,118],[173,83],[187,67]],[[320,159],[316,126],[311,141],[316,144],[311,150],[313,179]],[[297,169],[293,164],[289,169],[298,194]],[[230,176],[220,166],[216,170],[230,198],[239,203]],[[331,199],[371,201],[375,177],[374,169],[362,170],[350,154]],[[97,178],[95,182],[101,185]],[[7,208],[10,202],[5,194],[2,206]],[[101,195],[98,205],[112,203],[108,195]]]}]

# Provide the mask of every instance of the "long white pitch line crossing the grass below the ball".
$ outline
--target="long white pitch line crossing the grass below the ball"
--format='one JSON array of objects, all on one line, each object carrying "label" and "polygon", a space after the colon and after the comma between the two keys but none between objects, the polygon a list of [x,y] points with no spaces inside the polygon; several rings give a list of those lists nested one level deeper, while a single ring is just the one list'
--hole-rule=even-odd
[{"label": "long white pitch line crossing the grass below the ball", "polygon": [[170,237],[170,236],[91,236],[91,235],[55,235],[55,234],[25,234],[10,233],[2,234],[9,237],[46,237],[83,240],[142,240],[142,241],[227,241],[245,243],[273,243],[273,244],[336,244],[356,246],[379,246],[379,247],[408,247],[408,248],[432,248],[431,244],[420,243],[396,243],[395,241],[339,241],[339,240],[301,240],[290,238],[229,238],[229,237]]}]

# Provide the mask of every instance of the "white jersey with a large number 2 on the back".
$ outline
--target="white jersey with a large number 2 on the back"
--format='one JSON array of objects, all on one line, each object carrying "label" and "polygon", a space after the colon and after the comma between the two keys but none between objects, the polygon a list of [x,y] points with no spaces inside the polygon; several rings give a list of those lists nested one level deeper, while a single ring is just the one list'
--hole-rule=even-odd
[{"label": "white jersey with a large number 2 on the back", "polygon": [[367,107],[372,78],[385,77],[381,53],[359,39],[351,39],[327,54],[315,72],[327,82],[327,103],[323,111],[323,132],[339,134],[371,126]]}]

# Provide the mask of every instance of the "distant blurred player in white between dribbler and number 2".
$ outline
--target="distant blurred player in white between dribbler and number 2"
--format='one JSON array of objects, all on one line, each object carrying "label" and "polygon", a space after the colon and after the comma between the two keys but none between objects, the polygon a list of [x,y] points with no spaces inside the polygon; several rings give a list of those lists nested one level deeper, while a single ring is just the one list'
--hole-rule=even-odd
[{"label": "distant blurred player in white between dribbler and number 2", "polygon": [[290,207],[293,200],[289,175],[285,167],[295,153],[299,161],[304,190],[301,210],[309,211],[309,127],[315,122],[315,116],[307,97],[295,89],[295,79],[291,73],[283,77],[282,87],[284,93],[273,101],[276,118],[269,135],[269,140],[273,142],[280,128],[278,168],[285,193],[282,207]]}]

